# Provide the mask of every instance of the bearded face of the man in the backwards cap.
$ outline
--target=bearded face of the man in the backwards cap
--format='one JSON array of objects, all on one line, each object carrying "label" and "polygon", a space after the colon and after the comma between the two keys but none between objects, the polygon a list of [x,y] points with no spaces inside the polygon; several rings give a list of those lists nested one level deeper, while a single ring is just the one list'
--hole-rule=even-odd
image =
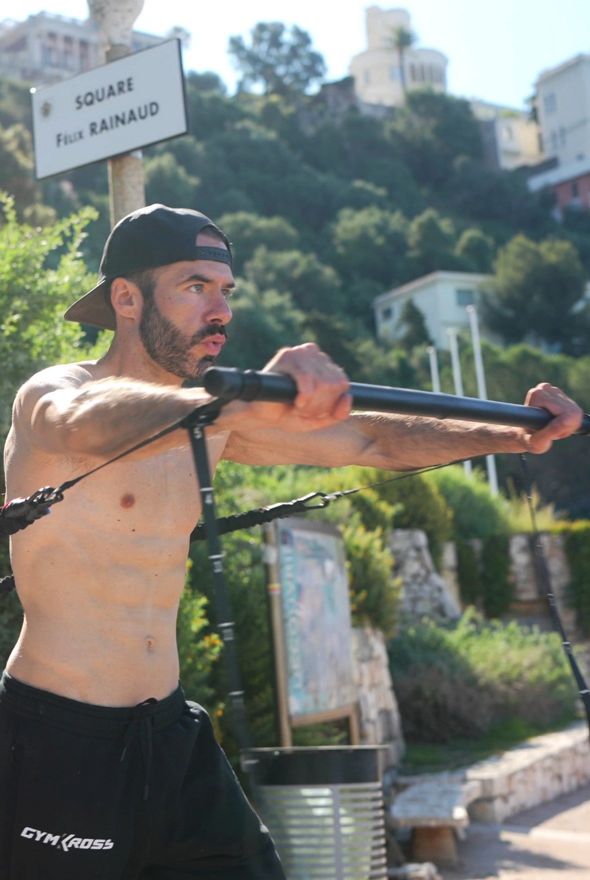
[{"label": "bearded face of the man in the backwards cap", "polygon": [[[206,235],[197,243],[224,247]],[[226,300],[234,287],[232,269],[214,260],[159,269],[152,296],[144,297],[139,324],[151,360],[177,378],[200,379],[225,343],[225,325],[232,318]]]}]

